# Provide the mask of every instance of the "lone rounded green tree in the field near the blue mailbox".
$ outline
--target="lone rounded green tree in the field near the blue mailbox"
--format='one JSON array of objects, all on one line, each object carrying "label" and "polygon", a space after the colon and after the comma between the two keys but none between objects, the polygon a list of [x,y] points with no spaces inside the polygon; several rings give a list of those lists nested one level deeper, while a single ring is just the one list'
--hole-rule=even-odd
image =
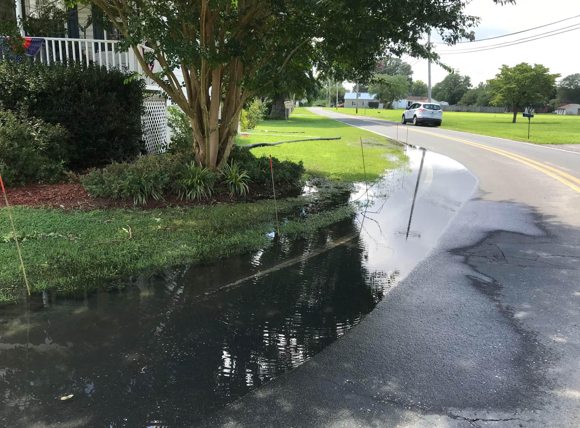
[{"label": "lone rounded green tree in the field near the blue mailbox", "polygon": [[516,123],[517,113],[526,107],[538,108],[546,106],[552,95],[556,79],[560,74],[549,74],[550,69],[542,64],[528,63],[508,67],[505,64],[499,69],[495,79],[488,80],[490,84],[491,104],[513,108],[513,121]]}]

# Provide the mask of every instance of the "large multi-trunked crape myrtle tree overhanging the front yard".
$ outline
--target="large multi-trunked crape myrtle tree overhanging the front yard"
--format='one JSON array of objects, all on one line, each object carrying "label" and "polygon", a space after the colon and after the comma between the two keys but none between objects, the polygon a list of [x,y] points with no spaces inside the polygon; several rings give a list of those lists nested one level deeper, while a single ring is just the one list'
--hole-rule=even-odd
[{"label": "large multi-trunked crape myrtle tree overhanging the front yard", "polygon": [[[513,0],[489,0],[495,3]],[[295,65],[364,83],[382,56],[437,60],[422,42],[473,39],[466,0],[66,0],[94,4],[133,49],[143,72],[187,115],[195,159],[210,169],[229,157],[244,102]],[[137,47],[147,42],[145,57]],[[147,64],[156,59],[162,72]],[[181,68],[183,81],[173,72]],[[338,72],[340,70],[340,72]],[[221,125],[218,117],[221,109]]]}]

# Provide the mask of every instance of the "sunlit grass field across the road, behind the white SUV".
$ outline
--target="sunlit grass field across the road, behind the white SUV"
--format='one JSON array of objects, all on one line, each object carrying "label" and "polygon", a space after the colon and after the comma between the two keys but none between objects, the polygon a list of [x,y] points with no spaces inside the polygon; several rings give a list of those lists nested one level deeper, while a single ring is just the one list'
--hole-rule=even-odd
[{"label": "sunlit grass field across the road, behind the white SUV", "polygon": [[[336,111],[334,108],[325,110]],[[339,113],[355,115],[353,108],[339,108]],[[377,117],[390,121],[401,121],[404,110],[358,109],[358,115]],[[444,111],[441,128],[472,132],[480,135],[501,137],[516,141],[530,141],[537,144],[580,144],[580,116],[558,114],[536,114],[531,119],[530,140],[528,121],[518,114],[516,124],[512,124],[512,113],[467,113]]]}]

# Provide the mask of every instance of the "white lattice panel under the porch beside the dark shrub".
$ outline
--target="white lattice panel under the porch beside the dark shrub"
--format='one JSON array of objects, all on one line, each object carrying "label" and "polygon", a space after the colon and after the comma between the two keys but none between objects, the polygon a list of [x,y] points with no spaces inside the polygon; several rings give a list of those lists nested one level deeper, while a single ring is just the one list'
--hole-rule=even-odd
[{"label": "white lattice panel under the porch beside the dark shrub", "polygon": [[151,96],[143,101],[145,113],[142,117],[143,141],[147,153],[164,153],[167,149],[166,103],[162,97]]}]

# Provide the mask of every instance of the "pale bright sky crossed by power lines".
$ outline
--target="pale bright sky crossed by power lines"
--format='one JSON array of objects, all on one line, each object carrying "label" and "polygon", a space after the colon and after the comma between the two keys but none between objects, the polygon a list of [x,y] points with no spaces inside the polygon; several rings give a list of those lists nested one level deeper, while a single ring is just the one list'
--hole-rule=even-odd
[{"label": "pale bright sky crossed by power lines", "polygon": [[[516,5],[506,6],[496,5],[492,0],[473,0],[465,10],[468,14],[480,17],[479,26],[473,29],[477,40],[527,30],[580,15],[580,0],[516,0]],[[572,24],[580,24],[580,17],[499,39],[460,43],[455,46],[437,45],[437,52],[443,53],[444,50],[473,49],[495,45],[551,30],[559,30]],[[565,30],[570,29],[566,28]],[[432,36],[432,41],[437,41],[436,37]],[[565,77],[580,72],[579,46],[580,29],[484,52],[441,55],[441,61],[454,68],[456,72],[469,75],[473,85],[494,78],[502,64],[514,66],[522,62],[543,64],[550,68],[550,72],[557,72]],[[405,59],[405,56],[403,59],[412,64],[414,80],[427,82],[426,60],[419,60],[413,64],[415,59],[411,57]],[[442,67],[432,64],[433,85],[443,80],[447,74],[447,71]]]}]

